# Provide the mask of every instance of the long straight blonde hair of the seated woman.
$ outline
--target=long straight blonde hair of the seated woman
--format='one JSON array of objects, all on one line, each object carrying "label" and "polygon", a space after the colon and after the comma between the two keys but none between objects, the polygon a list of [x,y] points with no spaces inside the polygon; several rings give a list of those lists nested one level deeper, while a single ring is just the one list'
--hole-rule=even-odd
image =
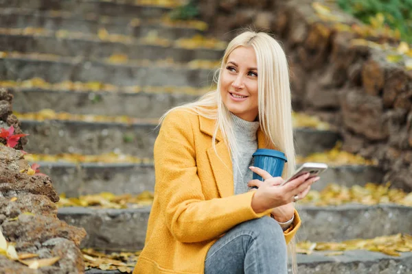
[{"label": "long straight blonde hair of the seated woman", "polygon": [[[216,71],[214,80],[216,90],[208,92],[197,101],[172,108],[166,112],[182,109],[194,112],[207,119],[216,120],[216,128],[211,141],[216,151],[216,135],[222,134],[232,154],[238,153],[236,136],[233,132],[229,110],[220,95],[220,75],[225,69],[230,53],[237,47],[252,47],[258,62],[258,108],[260,128],[266,137],[266,147],[278,149],[285,153],[288,162],[285,164],[282,177],[286,178],[295,172],[295,146],[293,138],[292,105],[290,99],[290,81],[288,62],[279,42],[264,32],[243,32],[229,42],[223,55],[220,70]],[[218,73],[218,77],[216,77]],[[297,273],[295,239],[290,242],[289,253],[293,265],[293,273]]]}]

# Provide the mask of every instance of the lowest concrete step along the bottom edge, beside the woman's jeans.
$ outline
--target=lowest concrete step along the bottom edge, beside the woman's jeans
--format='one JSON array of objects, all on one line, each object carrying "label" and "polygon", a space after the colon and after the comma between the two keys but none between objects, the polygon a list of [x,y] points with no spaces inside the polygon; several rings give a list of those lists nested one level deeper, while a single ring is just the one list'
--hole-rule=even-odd
[{"label": "lowest concrete step along the bottom edge, beside the woman's jeans", "polygon": [[[297,254],[297,265],[299,274],[411,274],[412,252],[393,257],[367,250],[345,251],[339,256],[317,251],[310,255]],[[120,271],[89,269],[86,274],[120,274]]]}]

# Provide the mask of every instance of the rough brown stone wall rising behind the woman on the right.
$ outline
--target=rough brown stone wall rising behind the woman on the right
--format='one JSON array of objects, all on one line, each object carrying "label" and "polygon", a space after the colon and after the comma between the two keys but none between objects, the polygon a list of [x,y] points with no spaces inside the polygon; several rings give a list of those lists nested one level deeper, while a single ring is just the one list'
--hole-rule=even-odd
[{"label": "rough brown stone wall rising behind the woman on the right", "polygon": [[412,72],[398,38],[371,29],[336,5],[307,0],[201,0],[210,33],[229,40],[253,27],[282,42],[290,62],[293,108],[319,116],[343,149],[376,158],[382,182],[412,190]]}]

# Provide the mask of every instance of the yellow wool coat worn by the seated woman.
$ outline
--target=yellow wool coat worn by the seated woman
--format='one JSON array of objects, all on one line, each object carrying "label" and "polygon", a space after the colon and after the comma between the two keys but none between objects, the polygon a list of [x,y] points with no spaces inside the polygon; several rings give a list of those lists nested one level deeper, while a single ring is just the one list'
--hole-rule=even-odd
[{"label": "yellow wool coat worn by the seated woman", "polygon": [[[215,122],[184,110],[166,116],[155,142],[155,199],[146,242],[133,274],[204,273],[209,247],[229,229],[257,214],[255,191],[233,195],[231,156],[219,133],[216,155],[211,145]],[[264,145],[258,131],[258,147]],[[300,226],[284,232],[286,242]]]}]

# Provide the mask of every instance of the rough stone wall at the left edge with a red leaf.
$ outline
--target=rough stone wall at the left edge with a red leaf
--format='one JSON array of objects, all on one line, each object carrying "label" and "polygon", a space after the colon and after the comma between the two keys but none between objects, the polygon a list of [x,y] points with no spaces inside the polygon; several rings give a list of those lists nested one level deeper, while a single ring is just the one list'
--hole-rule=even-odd
[{"label": "rough stone wall at the left edge with a red leaf", "polygon": [[[10,125],[21,133],[12,114],[12,95],[0,88],[0,127]],[[30,138],[30,136],[29,136]],[[22,149],[25,139],[16,148]],[[55,202],[59,197],[48,176],[30,175],[30,165],[20,150],[5,146],[0,138],[0,229],[17,253],[36,254],[36,259],[59,257],[52,266],[30,269],[25,264],[0,256],[0,273],[84,273],[79,249],[86,236],[83,228],[73,227],[57,218]]]}]

